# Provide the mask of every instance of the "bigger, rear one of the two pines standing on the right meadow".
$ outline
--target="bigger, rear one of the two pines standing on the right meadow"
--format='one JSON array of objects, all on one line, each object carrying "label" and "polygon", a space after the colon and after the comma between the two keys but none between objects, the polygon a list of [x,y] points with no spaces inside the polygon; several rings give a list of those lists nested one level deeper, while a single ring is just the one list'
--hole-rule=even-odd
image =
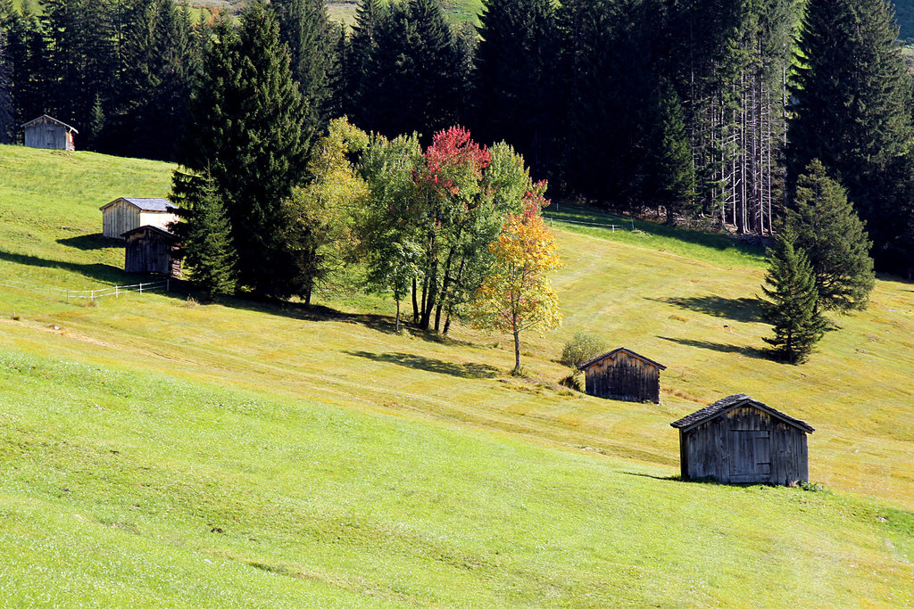
[{"label": "bigger, rear one of the two pines standing on the right meadow", "polygon": [[818,160],[800,176],[787,225],[796,247],[813,265],[818,310],[863,310],[876,275],[869,257],[872,242],[847,202],[841,184],[828,177]]}]

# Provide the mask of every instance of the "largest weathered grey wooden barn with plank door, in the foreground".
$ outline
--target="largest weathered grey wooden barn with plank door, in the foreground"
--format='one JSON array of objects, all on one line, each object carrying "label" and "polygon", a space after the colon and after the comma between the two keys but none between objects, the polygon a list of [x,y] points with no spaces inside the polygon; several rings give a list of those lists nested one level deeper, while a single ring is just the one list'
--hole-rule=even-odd
[{"label": "largest weathered grey wooden barn with plank door, in the foreground", "polygon": [[813,428],[736,394],[671,423],[679,430],[684,480],[793,485],[809,480],[806,434]]}]

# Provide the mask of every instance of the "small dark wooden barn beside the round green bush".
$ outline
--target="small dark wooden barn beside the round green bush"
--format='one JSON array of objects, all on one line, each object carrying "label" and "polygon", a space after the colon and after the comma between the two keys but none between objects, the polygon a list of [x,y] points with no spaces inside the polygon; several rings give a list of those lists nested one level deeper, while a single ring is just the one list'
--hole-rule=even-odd
[{"label": "small dark wooden barn beside the round green bush", "polygon": [[589,395],[627,402],[660,402],[662,363],[620,347],[578,366]]}]

